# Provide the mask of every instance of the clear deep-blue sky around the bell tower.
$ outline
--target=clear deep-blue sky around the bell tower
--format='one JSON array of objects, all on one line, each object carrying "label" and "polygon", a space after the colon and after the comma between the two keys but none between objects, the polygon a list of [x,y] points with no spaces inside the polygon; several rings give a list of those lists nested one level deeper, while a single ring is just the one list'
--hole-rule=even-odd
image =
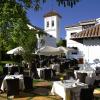
[{"label": "clear deep-blue sky around the bell tower", "polygon": [[41,6],[42,8],[39,11],[34,11],[34,9],[28,10],[27,17],[30,23],[44,29],[43,16],[53,9],[62,16],[60,20],[60,37],[63,39],[66,35],[66,26],[100,17],[100,0],[80,0],[73,8],[59,7],[56,0],[48,0],[47,3]]}]

